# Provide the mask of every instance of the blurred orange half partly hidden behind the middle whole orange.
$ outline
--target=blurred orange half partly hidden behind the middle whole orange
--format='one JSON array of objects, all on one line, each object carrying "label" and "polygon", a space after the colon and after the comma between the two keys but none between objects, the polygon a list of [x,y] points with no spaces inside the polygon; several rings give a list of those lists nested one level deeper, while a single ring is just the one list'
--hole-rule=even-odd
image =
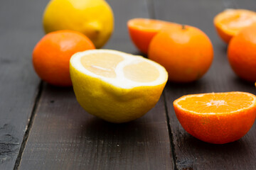
[{"label": "blurred orange half partly hidden behind the middle whole orange", "polygon": [[149,43],[156,33],[177,25],[176,23],[148,18],[134,18],[127,22],[132,42],[134,42],[134,45],[144,54],[147,54]]}]

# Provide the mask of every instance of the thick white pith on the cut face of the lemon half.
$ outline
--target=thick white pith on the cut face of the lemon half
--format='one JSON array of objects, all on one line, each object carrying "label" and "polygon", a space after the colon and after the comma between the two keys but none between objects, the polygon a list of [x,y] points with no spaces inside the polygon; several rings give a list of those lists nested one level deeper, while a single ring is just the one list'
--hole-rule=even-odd
[{"label": "thick white pith on the cut face of the lemon half", "polygon": [[[121,57],[124,58],[124,60],[122,62],[119,62],[119,64],[117,64],[117,67],[115,69],[115,73],[116,73],[116,77],[115,78],[108,78],[108,77],[102,77],[100,75],[94,74],[93,72],[88,71],[87,69],[85,69],[85,67],[82,66],[80,59],[81,57],[85,56],[85,55],[90,55],[90,54],[95,54],[95,53],[109,53],[109,54],[114,54],[114,55],[120,55]],[[138,62],[149,62],[150,64],[154,65],[156,67],[156,69],[159,70],[159,77],[158,79],[156,79],[155,81],[151,81],[151,82],[146,82],[146,83],[142,83],[142,82],[137,82],[137,81],[132,81],[130,79],[126,79],[124,77],[124,72],[122,69],[124,69],[124,67],[127,64],[132,64],[132,63],[138,63]],[[109,84],[112,84],[114,86],[118,86],[120,88],[123,89],[132,89],[134,87],[137,86],[156,86],[159,84],[164,84],[168,78],[168,74],[166,72],[166,69],[164,69],[164,67],[162,67],[160,64],[153,62],[151,60],[148,60],[142,56],[138,56],[138,55],[129,55],[125,52],[118,52],[115,50],[86,50],[84,52],[77,52],[75,53],[75,55],[73,55],[70,59],[70,64],[78,70],[78,72],[81,72],[83,74],[89,75],[90,77],[95,77],[98,79],[101,79],[102,81],[105,81]]]}]

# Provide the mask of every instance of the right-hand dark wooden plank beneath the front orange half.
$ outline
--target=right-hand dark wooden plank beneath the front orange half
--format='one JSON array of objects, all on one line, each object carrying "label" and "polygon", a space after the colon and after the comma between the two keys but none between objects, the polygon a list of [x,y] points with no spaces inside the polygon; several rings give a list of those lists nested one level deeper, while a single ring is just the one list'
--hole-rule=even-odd
[{"label": "right-hand dark wooden plank beneath the front orange half", "polygon": [[[213,17],[228,6],[233,8],[234,2],[203,0],[154,2],[156,18],[201,28],[213,42],[215,52],[213,65],[203,79],[190,84],[169,83],[166,86],[165,99],[173,136],[176,169],[256,169],[255,125],[245,137],[237,142],[227,145],[211,145],[197,140],[183,130],[172,105],[176,98],[186,94],[213,91],[247,91],[256,94],[252,83],[242,81],[230,69],[226,57],[227,45],[218,38],[213,26]],[[250,6],[255,5],[256,2],[251,1]]]}]

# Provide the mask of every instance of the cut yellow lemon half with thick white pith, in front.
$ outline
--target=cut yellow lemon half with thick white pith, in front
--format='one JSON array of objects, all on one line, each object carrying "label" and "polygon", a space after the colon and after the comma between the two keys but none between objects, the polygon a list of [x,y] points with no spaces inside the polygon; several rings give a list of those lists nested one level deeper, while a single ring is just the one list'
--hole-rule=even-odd
[{"label": "cut yellow lemon half with thick white pith, in front", "polygon": [[168,74],[160,64],[115,50],[87,50],[70,59],[78,103],[112,123],[142,117],[155,106]]}]

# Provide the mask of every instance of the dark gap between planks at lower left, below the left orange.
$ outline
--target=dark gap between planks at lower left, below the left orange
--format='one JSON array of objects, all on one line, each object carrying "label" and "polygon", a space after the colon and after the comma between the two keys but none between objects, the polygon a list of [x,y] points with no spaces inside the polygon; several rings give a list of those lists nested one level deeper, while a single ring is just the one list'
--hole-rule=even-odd
[{"label": "dark gap between planks at lower left, below the left orange", "polygon": [[21,157],[22,157],[24,148],[26,147],[26,142],[28,141],[28,135],[29,135],[29,132],[30,132],[31,127],[33,125],[33,119],[36,115],[36,109],[38,108],[38,103],[41,99],[42,91],[43,91],[43,81],[41,81],[40,84],[38,85],[38,93],[36,94],[36,99],[35,99],[35,102],[33,104],[33,109],[32,109],[32,112],[31,112],[31,116],[28,120],[28,125],[27,125],[27,128],[26,128],[26,132],[25,132],[23,140],[21,142],[21,149],[18,152],[18,157],[17,157],[16,162],[14,164],[14,170],[17,170],[19,164],[21,163]]}]

